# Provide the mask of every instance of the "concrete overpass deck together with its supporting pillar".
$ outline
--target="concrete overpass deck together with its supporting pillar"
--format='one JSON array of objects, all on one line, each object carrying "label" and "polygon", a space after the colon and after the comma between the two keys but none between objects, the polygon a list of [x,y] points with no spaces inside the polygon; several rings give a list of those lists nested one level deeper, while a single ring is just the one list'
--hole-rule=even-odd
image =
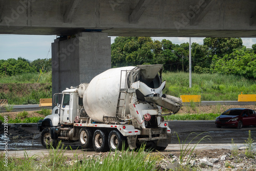
[{"label": "concrete overpass deck together with its supporting pillar", "polygon": [[52,45],[58,92],[111,67],[108,36],[256,37],[256,1],[0,0],[0,34],[63,36]]}]

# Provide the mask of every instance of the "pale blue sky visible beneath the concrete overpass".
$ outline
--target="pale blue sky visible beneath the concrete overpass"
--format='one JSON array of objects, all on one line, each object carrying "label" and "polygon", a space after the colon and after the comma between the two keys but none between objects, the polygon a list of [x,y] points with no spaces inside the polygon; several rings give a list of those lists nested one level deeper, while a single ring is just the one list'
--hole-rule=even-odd
[{"label": "pale blue sky visible beneath the concrete overpass", "polygon": [[[56,39],[56,35],[0,35],[0,59],[9,59],[22,57],[33,61],[35,59],[51,58],[51,43]],[[111,37],[111,43],[115,37]],[[188,42],[188,37],[152,37],[153,40],[168,39],[173,44],[182,44]],[[192,37],[192,42],[203,44],[202,37]],[[243,45],[251,48],[256,44],[256,38],[242,38]]]}]

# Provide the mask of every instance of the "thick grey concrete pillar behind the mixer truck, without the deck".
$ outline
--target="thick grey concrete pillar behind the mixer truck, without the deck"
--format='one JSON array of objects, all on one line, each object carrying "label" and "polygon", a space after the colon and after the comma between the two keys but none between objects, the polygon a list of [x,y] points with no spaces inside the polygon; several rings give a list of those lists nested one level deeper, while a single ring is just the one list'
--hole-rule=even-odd
[{"label": "thick grey concrete pillar behind the mixer truck, without the deck", "polygon": [[107,33],[82,32],[52,43],[52,93],[90,82],[111,68],[111,38]]}]

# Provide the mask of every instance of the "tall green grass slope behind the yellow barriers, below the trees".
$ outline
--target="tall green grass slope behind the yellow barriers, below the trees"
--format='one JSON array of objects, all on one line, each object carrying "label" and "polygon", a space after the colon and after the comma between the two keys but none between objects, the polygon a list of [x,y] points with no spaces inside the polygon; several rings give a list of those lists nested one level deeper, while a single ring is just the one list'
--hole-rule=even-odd
[{"label": "tall green grass slope behind the yellow barriers, below the trees", "polygon": [[189,88],[189,74],[184,72],[163,73],[166,80],[164,93],[176,97],[180,95],[201,95],[201,100],[238,100],[238,95],[255,94],[256,81],[241,76],[221,74],[192,74]]}]

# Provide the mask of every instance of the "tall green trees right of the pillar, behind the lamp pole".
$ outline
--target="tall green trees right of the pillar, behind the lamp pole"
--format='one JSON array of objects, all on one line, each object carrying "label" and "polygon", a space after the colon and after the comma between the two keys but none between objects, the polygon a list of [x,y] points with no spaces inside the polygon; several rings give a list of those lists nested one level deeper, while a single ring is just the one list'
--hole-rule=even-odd
[{"label": "tall green trees right of the pillar, behind the lamp pole", "polygon": [[[165,71],[189,69],[189,44],[173,44],[150,37],[116,37],[111,45],[112,68],[162,64]],[[256,78],[256,44],[243,46],[238,37],[206,37],[203,45],[191,44],[192,71],[196,73],[235,74]]]}]

